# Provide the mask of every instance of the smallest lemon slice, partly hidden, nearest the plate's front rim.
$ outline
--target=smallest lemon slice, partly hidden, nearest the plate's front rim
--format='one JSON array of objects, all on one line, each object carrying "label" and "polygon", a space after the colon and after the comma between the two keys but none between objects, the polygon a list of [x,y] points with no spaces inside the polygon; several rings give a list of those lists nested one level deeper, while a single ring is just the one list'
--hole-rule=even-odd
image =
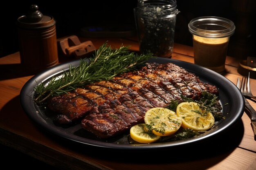
[{"label": "smallest lemon slice, partly hidden, nearest the plate's front rim", "polygon": [[146,124],[137,124],[130,128],[130,137],[142,144],[150,144],[157,141],[160,137],[153,134]]}]

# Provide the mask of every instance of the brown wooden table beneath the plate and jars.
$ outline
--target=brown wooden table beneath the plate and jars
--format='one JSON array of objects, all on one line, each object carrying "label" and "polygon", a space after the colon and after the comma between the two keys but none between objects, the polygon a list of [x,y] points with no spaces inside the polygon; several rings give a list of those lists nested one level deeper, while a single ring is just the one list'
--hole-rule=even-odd
[{"label": "brown wooden table beneath the plate and jars", "polygon": [[[112,47],[123,44],[131,46],[134,51],[139,49],[138,42],[133,38],[81,38],[81,41],[86,40],[91,40],[96,48],[108,40]],[[172,58],[193,63],[193,48],[175,44]],[[0,58],[0,64],[0,143],[54,167],[67,170],[256,169],[256,141],[246,113],[229,132],[192,148],[139,154],[81,148],[38,128],[22,110],[20,90],[33,75],[20,66],[19,52]],[[227,57],[227,73],[224,76],[234,84],[237,77],[242,77],[237,72],[237,66],[238,61]],[[251,79],[251,82],[252,93],[256,94],[256,79]],[[256,103],[249,102],[256,109]]]}]

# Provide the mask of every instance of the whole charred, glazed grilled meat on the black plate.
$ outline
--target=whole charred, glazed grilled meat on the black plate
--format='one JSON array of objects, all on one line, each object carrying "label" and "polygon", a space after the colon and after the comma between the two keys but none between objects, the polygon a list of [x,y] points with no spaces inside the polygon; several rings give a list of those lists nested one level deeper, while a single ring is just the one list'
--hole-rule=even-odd
[{"label": "whole charred, glazed grilled meat on the black plate", "polygon": [[99,138],[108,138],[144,122],[147,110],[167,107],[182,96],[200,99],[218,89],[172,63],[146,63],[138,71],[95,82],[52,97],[48,107],[59,115],[57,124],[80,123]]}]

